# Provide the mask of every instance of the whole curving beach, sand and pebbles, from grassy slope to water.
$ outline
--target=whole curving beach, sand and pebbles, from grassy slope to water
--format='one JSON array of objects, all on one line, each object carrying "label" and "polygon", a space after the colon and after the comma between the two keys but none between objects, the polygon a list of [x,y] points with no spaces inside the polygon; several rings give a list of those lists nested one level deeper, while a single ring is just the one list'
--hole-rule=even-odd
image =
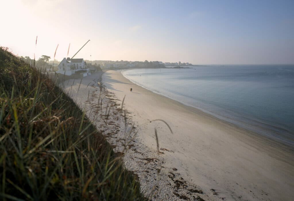
[{"label": "whole curving beach, sand and pebbles, from grassy slope to water", "polygon": [[144,89],[119,71],[65,81],[64,89],[124,152],[126,168],[153,200],[294,199],[294,154],[282,144]]}]

